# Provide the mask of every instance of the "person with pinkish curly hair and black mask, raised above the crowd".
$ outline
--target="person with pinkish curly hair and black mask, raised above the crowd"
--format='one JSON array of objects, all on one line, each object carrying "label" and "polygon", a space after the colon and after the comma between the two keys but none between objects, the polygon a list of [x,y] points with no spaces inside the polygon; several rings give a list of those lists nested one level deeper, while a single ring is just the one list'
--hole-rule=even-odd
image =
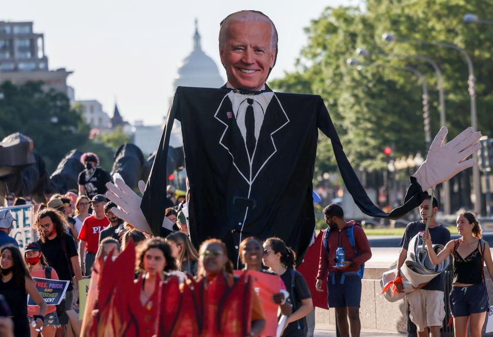
[{"label": "person with pinkish curly hair and black mask, raised above the crowd", "polygon": [[111,182],[109,173],[99,166],[99,157],[92,152],[82,154],[80,158],[85,169],[79,174],[79,195],[93,198],[106,193],[106,183]]}]

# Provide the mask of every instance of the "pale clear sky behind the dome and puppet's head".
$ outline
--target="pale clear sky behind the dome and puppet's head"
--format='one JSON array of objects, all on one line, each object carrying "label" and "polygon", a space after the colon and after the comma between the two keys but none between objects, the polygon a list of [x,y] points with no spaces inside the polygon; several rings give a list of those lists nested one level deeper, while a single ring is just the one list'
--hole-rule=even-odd
[{"label": "pale clear sky behind the dome and puppet's head", "polygon": [[[219,22],[242,9],[260,10],[275,23],[279,55],[271,78],[294,69],[306,43],[303,28],[327,6],[358,0],[166,1],[166,0],[0,0],[0,21],[34,21],[44,33],[51,69],[74,73],[68,84],[76,99],[97,99],[113,115],[115,100],[131,123],[160,124],[168,109],[181,60],[193,47],[198,19],[202,49],[218,65]],[[222,67],[223,79],[226,73]]]}]

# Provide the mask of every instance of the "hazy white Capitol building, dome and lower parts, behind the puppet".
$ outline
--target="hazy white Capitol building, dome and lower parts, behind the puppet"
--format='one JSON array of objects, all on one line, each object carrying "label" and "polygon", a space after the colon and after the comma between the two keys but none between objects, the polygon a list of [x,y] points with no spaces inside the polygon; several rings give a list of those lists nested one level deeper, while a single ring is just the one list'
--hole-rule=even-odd
[{"label": "hazy white Capitol building, dome and lower parts, behind the puppet", "polygon": [[[226,83],[219,74],[218,66],[214,60],[207,56],[202,50],[200,39],[196,19],[195,34],[193,36],[193,50],[189,56],[183,59],[178,68],[173,81],[173,91],[179,86],[220,88]],[[154,152],[159,144],[163,128],[164,125],[134,125],[134,144],[137,145],[144,154]],[[181,126],[176,120],[171,133],[170,146],[183,146]]]}]

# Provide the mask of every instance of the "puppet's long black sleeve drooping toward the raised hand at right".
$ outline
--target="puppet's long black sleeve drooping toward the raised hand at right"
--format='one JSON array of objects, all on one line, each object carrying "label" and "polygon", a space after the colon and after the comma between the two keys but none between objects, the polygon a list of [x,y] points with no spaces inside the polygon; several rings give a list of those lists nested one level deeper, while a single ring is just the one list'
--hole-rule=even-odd
[{"label": "puppet's long black sleeve drooping toward the raised hand at right", "polygon": [[331,139],[337,166],[339,167],[342,179],[344,180],[344,185],[351,196],[353,196],[353,199],[361,212],[372,217],[398,219],[421,204],[427,196],[427,193],[421,190],[421,186],[419,186],[416,178],[411,177],[411,186],[409,186],[406,192],[406,197],[404,198],[404,204],[402,206],[393,209],[390,213],[385,213],[375,206],[366,194],[358,176],[346,158],[336,128],[332,123],[331,116],[328,114],[322,98],[320,98],[319,101],[318,114],[318,128],[325,136]]}]

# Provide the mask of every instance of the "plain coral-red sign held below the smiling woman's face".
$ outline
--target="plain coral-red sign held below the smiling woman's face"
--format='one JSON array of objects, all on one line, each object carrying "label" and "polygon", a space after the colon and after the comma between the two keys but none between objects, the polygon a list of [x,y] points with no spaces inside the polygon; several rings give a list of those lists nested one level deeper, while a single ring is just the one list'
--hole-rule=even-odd
[{"label": "plain coral-red sign held below the smiling woman's face", "polygon": [[[243,273],[243,270],[234,271],[234,275],[238,276]],[[277,330],[277,309],[279,306],[272,302],[272,295],[280,292],[281,279],[277,275],[260,271],[248,270],[247,273],[253,279],[253,288],[259,296],[262,308],[264,309],[266,326],[263,334],[266,336],[275,336]]]}]

